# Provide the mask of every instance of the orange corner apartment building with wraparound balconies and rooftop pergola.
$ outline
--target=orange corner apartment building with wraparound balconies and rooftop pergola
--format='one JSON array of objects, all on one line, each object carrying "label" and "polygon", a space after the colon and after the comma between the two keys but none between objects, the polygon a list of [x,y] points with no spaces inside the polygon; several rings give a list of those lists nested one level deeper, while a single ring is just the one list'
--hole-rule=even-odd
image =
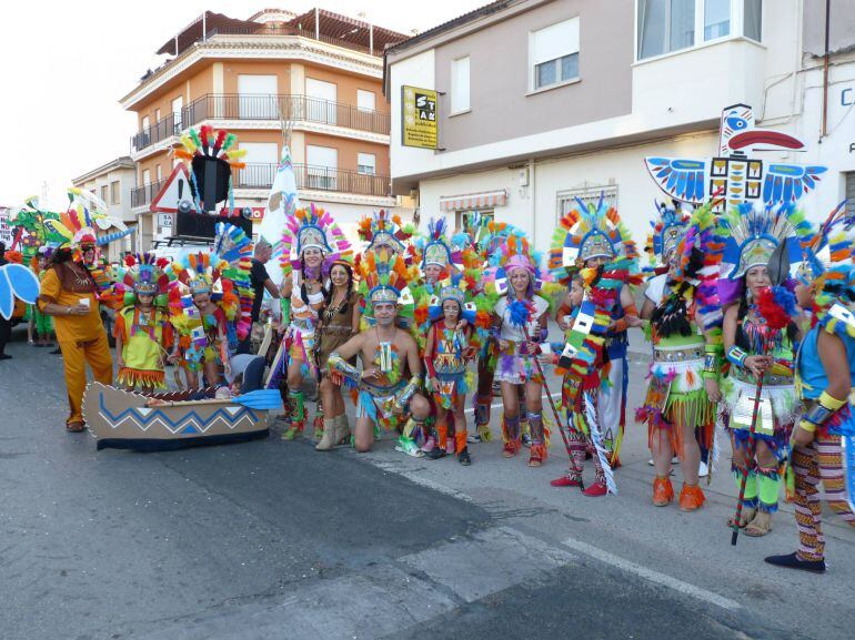
[{"label": "orange corner apartment building with wraparound balconies and rooftop pergola", "polygon": [[169,237],[169,216],[149,206],[180,134],[203,124],[235,133],[247,150],[247,167],[233,175],[235,207],[266,202],[288,123],[302,204],[329,209],[345,232],[368,212],[394,209],[382,55],[404,39],[322,9],[265,9],[248,20],[208,11],[168,40],[158,51],[168,61],[121,99],[139,116],[130,152],[138,246]]}]

